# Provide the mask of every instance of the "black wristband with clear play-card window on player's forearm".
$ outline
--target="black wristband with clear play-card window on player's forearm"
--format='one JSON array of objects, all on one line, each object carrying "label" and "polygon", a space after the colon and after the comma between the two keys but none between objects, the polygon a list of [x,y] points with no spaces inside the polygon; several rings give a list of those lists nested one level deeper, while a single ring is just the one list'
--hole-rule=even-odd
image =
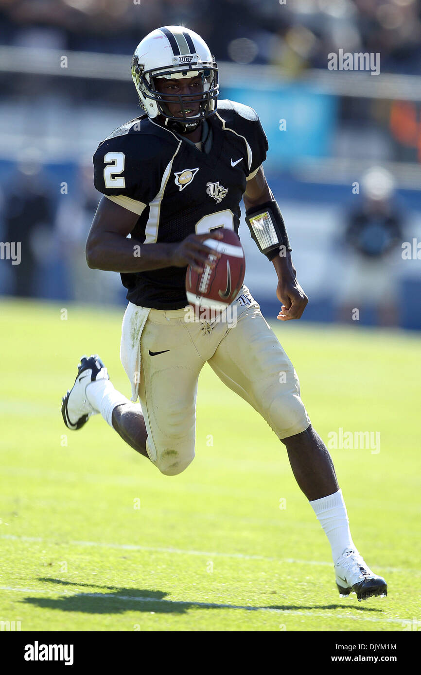
[{"label": "black wristband with clear play-card window on player's forearm", "polygon": [[280,254],[281,246],[284,252],[292,250],[282,213],[275,200],[247,209],[245,221],[251,237],[270,261]]}]

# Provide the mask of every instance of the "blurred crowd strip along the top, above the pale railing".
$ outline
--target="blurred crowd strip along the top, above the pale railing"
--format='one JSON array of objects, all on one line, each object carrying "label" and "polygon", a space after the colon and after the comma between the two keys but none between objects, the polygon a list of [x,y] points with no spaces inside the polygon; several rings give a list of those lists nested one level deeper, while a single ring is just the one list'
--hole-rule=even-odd
[{"label": "blurred crowd strip along the top, above the pale railing", "polygon": [[381,52],[383,71],[418,73],[419,15],[417,0],[0,0],[0,41],[124,54],[154,28],[182,24],[220,61],[295,73],[326,68],[341,48]]}]

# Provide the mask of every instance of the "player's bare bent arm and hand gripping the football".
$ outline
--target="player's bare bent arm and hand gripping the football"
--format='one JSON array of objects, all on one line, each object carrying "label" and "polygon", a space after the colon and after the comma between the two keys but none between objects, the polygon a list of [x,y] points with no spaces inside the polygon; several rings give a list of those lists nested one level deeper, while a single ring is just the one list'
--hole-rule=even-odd
[{"label": "player's bare bent arm and hand gripping the football", "polygon": [[[203,270],[207,254],[214,251],[203,241],[220,238],[218,232],[191,234],[174,244],[139,244],[128,238],[139,215],[103,196],[86,241],[86,262],[91,269],[132,273],[162,267],[193,265]],[[140,248],[140,250],[139,250]]]}]

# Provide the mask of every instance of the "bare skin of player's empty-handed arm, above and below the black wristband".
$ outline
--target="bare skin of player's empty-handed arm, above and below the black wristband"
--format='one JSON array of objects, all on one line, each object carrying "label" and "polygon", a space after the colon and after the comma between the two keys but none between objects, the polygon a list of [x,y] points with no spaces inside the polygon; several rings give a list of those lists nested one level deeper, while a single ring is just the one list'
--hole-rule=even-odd
[{"label": "bare skin of player's empty-handed arm, above and below the black wristband", "polygon": [[[274,200],[272,190],[268,186],[263,168],[259,167],[255,176],[247,180],[247,188],[243,194],[245,209],[247,211],[272,200]],[[301,317],[308,298],[297,281],[297,271],[291,260],[291,252],[282,250],[282,253],[276,255],[272,263],[278,275],[276,297],[282,302],[277,319],[288,321]]]}]

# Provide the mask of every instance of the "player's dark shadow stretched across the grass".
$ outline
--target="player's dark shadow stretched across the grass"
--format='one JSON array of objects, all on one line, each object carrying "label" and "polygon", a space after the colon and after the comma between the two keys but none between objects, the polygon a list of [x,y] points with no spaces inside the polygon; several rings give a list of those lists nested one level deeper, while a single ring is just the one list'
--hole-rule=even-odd
[{"label": "player's dark shadow stretched across the grass", "polygon": [[86,614],[122,614],[124,612],[155,612],[155,614],[186,614],[191,608],[204,610],[247,610],[256,612],[266,610],[272,612],[287,612],[288,610],[353,610],[356,612],[382,613],[376,607],[361,607],[357,605],[232,605],[228,603],[195,602],[167,599],[165,591],[150,591],[148,589],[121,588],[114,586],[99,586],[92,584],[78,584],[55,578],[39,578],[39,581],[55,583],[64,586],[89,587],[114,591],[114,593],[76,593],[75,595],[59,598],[26,597],[22,602],[37,607],[61,612],[84,612]]}]

